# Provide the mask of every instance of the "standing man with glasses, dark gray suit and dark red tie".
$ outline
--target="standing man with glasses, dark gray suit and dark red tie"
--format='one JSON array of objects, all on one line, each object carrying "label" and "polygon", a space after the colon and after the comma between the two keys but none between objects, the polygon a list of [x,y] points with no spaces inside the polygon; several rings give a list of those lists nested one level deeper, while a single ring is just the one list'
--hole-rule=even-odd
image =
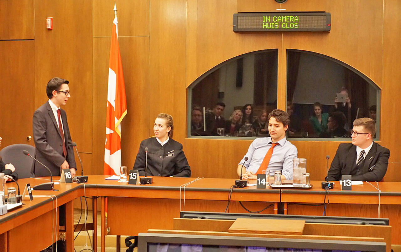
[{"label": "standing man with glasses, dark gray suit and dark red tie", "polygon": [[[75,176],[76,164],[67,114],[60,108],[71,97],[68,80],[52,78],[47,83],[46,94],[49,100],[33,114],[33,139],[35,158],[45,164],[53,176],[60,176],[61,169],[69,168]],[[34,162],[36,177],[49,176],[49,171]]]}]

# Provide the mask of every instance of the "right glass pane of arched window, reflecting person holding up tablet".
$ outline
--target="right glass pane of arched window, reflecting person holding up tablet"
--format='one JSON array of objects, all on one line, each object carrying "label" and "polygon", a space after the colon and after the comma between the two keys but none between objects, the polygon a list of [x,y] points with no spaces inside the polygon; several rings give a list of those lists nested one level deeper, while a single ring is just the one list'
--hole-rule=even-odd
[{"label": "right glass pane of arched window, reflecting person holding up tablet", "polygon": [[[358,70],[334,58],[287,50],[287,112],[293,138],[350,138],[356,118],[379,126],[380,88]],[[379,136],[377,129],[376,138]]]}]

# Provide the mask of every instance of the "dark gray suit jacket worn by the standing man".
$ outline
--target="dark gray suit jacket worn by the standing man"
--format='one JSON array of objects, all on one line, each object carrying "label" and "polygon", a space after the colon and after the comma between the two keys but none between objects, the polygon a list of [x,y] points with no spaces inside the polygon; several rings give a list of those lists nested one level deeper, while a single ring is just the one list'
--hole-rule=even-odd
[{"label": "dark gray suit jacket worn by the standing man", "polygon": [[[47,101],[33,114],[33,140],[35,142],[35,158],[47,166],[53,176],[60,176],[60,166],[67,160],[70,168],[76,168],[71,135],[68,128],[67,114],[61,110],[61,120],[64,128],[64,141],[67,148],[67,157],[63,157],[63,140],[59,131],[53,110]],[[50,176],[49,171],[34,161],[35,177]]]}]

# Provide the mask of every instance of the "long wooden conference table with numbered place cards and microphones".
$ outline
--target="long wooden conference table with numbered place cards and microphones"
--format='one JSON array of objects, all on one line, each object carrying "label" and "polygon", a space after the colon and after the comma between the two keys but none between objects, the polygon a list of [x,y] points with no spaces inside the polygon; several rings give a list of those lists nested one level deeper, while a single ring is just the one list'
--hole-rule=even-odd
[{"label": "long wooden conference table with numbered place cards and microphones", "polygon": [[[235,181],[235,179],[202,178],[184,187],[184,184],[196,178],[154,177],[154,183],[151,185],[128,185],[127,182],[105,180],[106,177],[89,176],[85,190],[83,184],[59,184],[55,185],[58,191],[33,191],[33,195],[55,195],[57,206],[67,204],[67,240],[73,238],[73,199],[84,196],[84,193],[86,196],[99,196],[102,202],[101,247],[103,250],[107,227],[110,228],[109,234],[136,235],[138,232],[146,232],[149,228],[171,229],[172,219],[179,217],[180,210],[224,212],[230,188]],[[18,180],[21,194],[26,183],[30,183],[33,187],[42,182],[46,181],[33,178]],[[254,181],[250,182],[254,183]],[[274,213],[273,208],[277,208],[277,203],[284,202],[284,208],[288,208],[288,214],[322,215],[323,206],[294,204],[323,203],[324,189],[320,188],[320,183],[320,181],[312,181],[311,184],[314,187],[311,190],[277,190],[269,187],[256,189],[256,186],[233,188],[229,212],[246,212],[239,204],[241,201],[243,206],[253,212],[270,206],[261,213],[272,214]],[[371,182],[371,184],[377,187],[376,182]],[[15,186],[15,183],[7,183],[6,187],[8,186]],[[399,218],[401,182],[379,182],[379,189],[381,190],[380,217],[390,219],[390,225],[393,227],[391,243],[401,244],[401,220]],[[106,198],[108,199],[107,226],[104,214]],[[360,186],[352,186],[352,191],[341,191],[339,183],[336,182],[335,188],[329,191],[328,199],[330,204],[326,206],[326,215],[378,217],[379,214],[378,191],[367,182]],[[96,199],[94,198],[94,200]],[[50,213],[54,212],[56,200],[52,202],[50,197],[35,197],[30,202],[26,197],[22,202],[25,205],[21,208],[0,216],[0,244],[1,241],[8,241],[4,243],[8,251],[12,251],[10,248],[14,249],[10,240],[22,235],[20,233],[24,229],[22,227],[30,228],[24,237],[36,240],[34,236],[39,232],[35,233],[34,228],[39,227],[43,232],[43,226],[38,220],[52,223],[52,220],[49,222],[49,218],[53,216]],[[135,218],[132,218],[133,216]],[[95,221],[97,221],[96,217]],[[48,232],[47,238],[37,239],[42,246],[51,244],[51,228]],[[67,242],[67,244],[68,251],[73,251],[73,242]],[[1,247],[0,251],[2,249]]]}]

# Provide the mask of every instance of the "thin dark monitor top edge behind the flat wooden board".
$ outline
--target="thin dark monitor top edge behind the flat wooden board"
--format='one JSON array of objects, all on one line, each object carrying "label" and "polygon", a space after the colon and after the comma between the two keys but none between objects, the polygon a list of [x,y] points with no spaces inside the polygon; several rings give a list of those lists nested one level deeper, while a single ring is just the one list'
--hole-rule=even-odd
[{"label": "thin dark monitor top edge behind the flat wooden board", "polygon": [[180,212],[180,218],[198,218],[212,220],[236,220],[237,218],[260,218],[260,219],[286,219],[305,220],[306,223],[331,223],[331,224],[357,224],[357,225],[389,225],[387,218],[363,218],[342,216],[313,216],[313,215],[290,215],[290,214],[241,214],[222,212]]}]

